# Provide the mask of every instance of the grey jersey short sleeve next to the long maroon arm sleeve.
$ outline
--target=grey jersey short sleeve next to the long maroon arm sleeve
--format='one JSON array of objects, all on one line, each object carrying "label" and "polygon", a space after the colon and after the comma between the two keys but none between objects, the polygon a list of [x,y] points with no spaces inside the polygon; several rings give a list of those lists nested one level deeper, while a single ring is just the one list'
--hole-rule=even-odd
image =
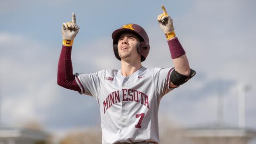
[{"label": "grey jersey short sleeve next to the long maroon arm sleeve", "polygon": [[75,73],[76,82],[81,89],[79,93],[81,95],[93,96],[97,99],[104,73],[104,71],[95,73]]}]

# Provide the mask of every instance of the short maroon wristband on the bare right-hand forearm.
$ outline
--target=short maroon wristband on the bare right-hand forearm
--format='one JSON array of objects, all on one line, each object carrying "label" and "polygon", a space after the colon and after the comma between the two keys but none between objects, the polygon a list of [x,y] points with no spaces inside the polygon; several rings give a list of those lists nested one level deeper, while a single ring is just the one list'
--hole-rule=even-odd
[{"label": "short maroon wristband on the bare right-hand forearm", "polygon": [[169,45],[172,59],[178,58],[186,53],[177,37],[168,40],[167,42]]}]

